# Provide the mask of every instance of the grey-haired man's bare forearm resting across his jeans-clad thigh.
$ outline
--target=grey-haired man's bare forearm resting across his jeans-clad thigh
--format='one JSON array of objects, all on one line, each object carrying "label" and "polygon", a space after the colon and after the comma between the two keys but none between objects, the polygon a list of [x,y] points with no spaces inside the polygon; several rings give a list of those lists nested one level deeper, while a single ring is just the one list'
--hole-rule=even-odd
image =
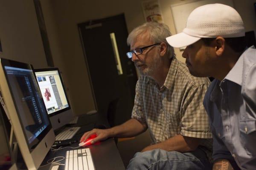
[{"label": "grey-haired man's bare forearm resting across his jeans-clad thigh", "polygon": [[189,152],[198,147],[200,139],[176,135],[166,141],[145,147],[142,151],[162,149],[167,151]]}]

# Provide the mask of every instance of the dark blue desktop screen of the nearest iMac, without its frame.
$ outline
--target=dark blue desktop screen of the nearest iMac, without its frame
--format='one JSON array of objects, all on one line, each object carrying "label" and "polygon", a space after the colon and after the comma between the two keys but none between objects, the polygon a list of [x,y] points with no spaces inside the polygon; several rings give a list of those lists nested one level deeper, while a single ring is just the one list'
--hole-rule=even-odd
[{"label": "dark blue desktop screen of the nearest iMac, without its frame", "polygon": [[49,126],[47,111],[31,69],[4,66],[10,89],[17,107],[30,148],[35,147],[35,140]]}]

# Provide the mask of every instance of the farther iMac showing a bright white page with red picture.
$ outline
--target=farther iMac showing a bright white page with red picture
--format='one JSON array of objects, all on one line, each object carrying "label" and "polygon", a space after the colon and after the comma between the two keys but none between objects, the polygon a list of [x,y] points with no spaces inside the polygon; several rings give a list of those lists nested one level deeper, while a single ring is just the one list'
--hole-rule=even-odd
[{"label": "farther iMac showing a bright white page with red picture", "polygon": [[64,83],[58,68],[34,69],[54,130],[73,120]]}]

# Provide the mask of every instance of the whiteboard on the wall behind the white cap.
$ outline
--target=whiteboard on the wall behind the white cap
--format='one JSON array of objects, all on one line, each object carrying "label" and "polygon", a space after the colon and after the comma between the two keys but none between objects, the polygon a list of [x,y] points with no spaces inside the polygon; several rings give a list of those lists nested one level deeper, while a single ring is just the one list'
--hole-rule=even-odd
[{"label": "whiteboard on the wall behind the white cap", "polygon": [[232,0],[190,0],[186,3],[174,4],[171,6],[171,10],[175,23],[176,34],[182,32],[186,27],[186,20],[194,9],[209,3],[222,3],[233,7]]}]

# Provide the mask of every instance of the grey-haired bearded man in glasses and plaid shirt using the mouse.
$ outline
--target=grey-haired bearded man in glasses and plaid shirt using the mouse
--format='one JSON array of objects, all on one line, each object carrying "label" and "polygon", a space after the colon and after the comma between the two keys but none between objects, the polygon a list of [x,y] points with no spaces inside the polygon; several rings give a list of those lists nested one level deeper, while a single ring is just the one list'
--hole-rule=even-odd
[{"label": "grey-haired bearded man in glasses and plaid shirt using the mouse", "polygon": [[196,78],[177,61],[166,42],[168,26],[145,23],[128,36],[128,58],[141,76],[131,119],[107,130],[94,129],[93,142],[132,137],[149,129],[152,144],[135,154],[127,169],[211,169],[212,141],[203,107],[208,78]]}]

